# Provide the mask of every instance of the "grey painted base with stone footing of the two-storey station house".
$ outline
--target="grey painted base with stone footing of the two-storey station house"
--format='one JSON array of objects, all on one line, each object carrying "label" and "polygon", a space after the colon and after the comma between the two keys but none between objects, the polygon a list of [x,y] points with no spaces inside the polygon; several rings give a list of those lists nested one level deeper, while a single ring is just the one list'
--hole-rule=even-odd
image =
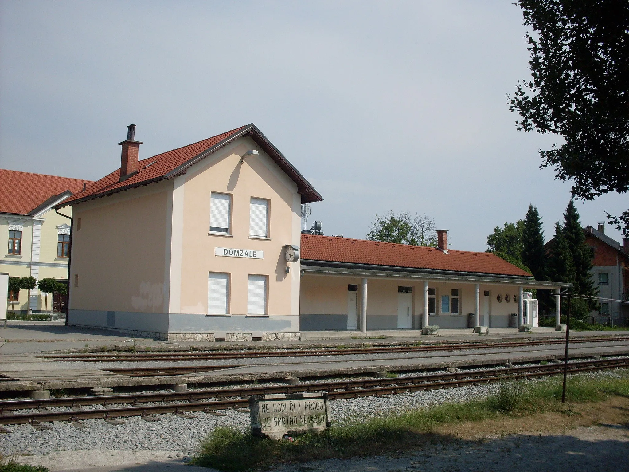
[{"label": "grey painted base with stone footing of the two-storey station house", "polygon": [[196,313],[70,310],[68,324],[159,340],[299,340],[297,316],[207,316]]}]

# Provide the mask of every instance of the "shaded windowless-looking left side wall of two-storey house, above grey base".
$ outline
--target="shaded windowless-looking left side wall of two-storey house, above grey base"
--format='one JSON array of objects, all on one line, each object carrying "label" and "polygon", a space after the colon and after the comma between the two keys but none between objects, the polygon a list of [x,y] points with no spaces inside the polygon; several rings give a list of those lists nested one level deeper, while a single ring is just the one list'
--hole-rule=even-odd
[{"label": "shaded windowless-looking left side wall of two-storey house, above grey base", "polygon": [[163,312],[170,189],[162,181],[74,205],[72,310]]}]

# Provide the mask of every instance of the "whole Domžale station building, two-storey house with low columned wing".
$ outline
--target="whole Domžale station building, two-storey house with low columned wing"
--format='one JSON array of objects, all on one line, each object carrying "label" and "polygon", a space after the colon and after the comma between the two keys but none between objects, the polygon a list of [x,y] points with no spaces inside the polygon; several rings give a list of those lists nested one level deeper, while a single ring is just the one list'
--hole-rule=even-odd
[{"label": "whole Dom\u017eale station building, two-storey house with low columned wing", "polygon": [[301,233],[302,203],[323,197],[253,124],[148,159],[141,144],[130,125],[120,168],[55,207],[72,206],[70,325],[167,340],[482,331],[535,323],[526,289],[565,285],[449,249],[445,230],[437,248]]}]

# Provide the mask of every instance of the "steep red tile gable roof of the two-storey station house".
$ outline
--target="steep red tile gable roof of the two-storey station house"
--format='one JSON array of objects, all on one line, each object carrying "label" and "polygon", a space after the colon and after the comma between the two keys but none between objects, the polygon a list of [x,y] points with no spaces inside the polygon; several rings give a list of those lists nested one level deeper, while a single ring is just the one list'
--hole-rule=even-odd
[{"label": "steep red tile gable roof of the two-storey station house", "polygon": [[298,184],[298,191],[301,193],[304,203],[323,199],[308,181],[299,174],[297,169],[292,167],[292,164],[288,162],[286,157],[284,157],[279,150],[260,133],[255,125],[251,123],[250,125],[240,126],[240,128],[236,128],[235,130],[230,130],[184,147],[148,157],[148,159],[142,159],[138,162],[138,173],[122,182],[120,182],[120,169],[116,169],[108,176],[88,186],[86,191],[79,192],[72,196],[72,198],[67,199],[60,206],[71,205],[72,203],[97,198],[99,196],[111,195],[129,188],[174,177],[184,172],[187,167],[191,166],[199,159],[203,159],[203,157],[211,154],[214,150],[220,149],[233,138],[247,135],[250,135],[258,142],[265,152],[277,162],[282,170]]}]

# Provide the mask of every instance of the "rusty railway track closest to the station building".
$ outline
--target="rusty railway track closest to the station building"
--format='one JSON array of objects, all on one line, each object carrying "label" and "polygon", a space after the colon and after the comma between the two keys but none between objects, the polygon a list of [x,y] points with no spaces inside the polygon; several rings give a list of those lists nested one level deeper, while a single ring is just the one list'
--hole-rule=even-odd
[{"label": "rusty railway track closest to the station building", "polygon": [[[629,337],[601,337],[588,339],[572,339],[571,344],[584,342],[610,342],[629,341]],[[150,352],[118,354],[92,353],[92,354],[48,354],[38,356],[55,361],[74,362],[177,362],[177,361],[204,361],[225,359],[248,359],[257,357],[311,357],[311,356],[345,356],[347,354],[384,354],[388,352],[427,352],[427,351],[458,351],[464,349],[486,349],[490,347],[521,347],[521,346],[545,346],[552,344],[564,344],[564,339],[546,339],[535,341],[493,342],[493,343],[465,343],[465,344],[440,344],[438,346],[391,346],[391,347],[367,347],[356,349],[294,349],[290,351],[245,351],[245,352]],[[232,366],[233,367],[233,366]]]}]

